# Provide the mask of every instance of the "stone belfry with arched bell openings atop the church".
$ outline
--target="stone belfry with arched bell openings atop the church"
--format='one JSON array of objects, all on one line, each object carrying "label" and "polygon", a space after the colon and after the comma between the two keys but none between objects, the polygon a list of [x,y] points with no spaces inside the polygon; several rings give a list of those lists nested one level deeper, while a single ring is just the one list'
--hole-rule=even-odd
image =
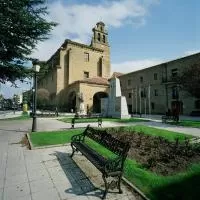
[{"label": "stone belfry with arched bell openings atop the church", "polygon": [[103,22],[98,22],[92,31],[93,37],[91,46],[104,50],[108,48],[108,32],[105,30],[105,24]]}]

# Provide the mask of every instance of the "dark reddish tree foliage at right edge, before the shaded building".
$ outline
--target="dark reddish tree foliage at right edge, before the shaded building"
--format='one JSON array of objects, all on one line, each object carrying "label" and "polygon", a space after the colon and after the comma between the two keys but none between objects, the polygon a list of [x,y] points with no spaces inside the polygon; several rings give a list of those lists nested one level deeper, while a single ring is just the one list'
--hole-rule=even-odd
[{"label": "dark reddish tree foliage at right edge, before the shaded building", "polygon": [[200,64],[194,64],[184,70],[177,82],[190,95],[200,98]]}]

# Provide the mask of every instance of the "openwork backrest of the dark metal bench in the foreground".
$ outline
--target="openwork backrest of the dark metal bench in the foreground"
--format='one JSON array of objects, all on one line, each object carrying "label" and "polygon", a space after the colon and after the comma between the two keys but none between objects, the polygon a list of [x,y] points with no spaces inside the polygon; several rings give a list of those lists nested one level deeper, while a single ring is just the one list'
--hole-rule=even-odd
[{"label": "openwork backrest of the dark metal bench in the foreground", "polygon": [[111,134],[107,133],[106,130],[94,129],[88,126],[83,134],[106,147],[118,156],[126,156],[130,148],[129,143],[121,142],[120,140],[114,138]]}]

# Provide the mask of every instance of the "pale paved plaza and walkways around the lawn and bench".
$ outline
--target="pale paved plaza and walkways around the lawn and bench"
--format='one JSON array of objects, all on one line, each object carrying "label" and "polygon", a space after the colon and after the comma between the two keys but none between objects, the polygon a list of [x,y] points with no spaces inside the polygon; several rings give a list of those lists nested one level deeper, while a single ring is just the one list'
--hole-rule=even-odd
[{"label": "pale paved plaza and walkways around the lawn and bench", "polygon": [[[56,119],[38,119],[38,130],[67,130],[70,123]],[[19,143],[31,129],[31,120],[0,121],[0,200],[89,200],[100,199],[104,189],[101,174],[81,154],[73,160],[69,157],[71,147],[28,150]],[[200,136],[198,128],[176,127],[151,122],[146,124]],[[87,124],[76,124],[86,127]],[[97,126],[97,123],[92,123]],[[120,123],[103,122],[103,127],[121,126]],[[124,125],[124,124],[123,124]],[[132,189],[122,186],[124,193],[109,193],[108,200],[134,200]]]}]

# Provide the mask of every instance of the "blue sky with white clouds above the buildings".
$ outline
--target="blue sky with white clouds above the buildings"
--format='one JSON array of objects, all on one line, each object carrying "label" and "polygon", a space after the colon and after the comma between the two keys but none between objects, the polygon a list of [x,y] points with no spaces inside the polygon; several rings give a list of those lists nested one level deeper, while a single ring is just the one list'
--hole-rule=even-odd
[{"label": "blue sky with white clouds above the buildings", "polygon": [[[127,73],[200,52],[199,0],[46,0],[46,19],[59,25],[32,56],[48,60],[65,39],[90,44],[103,21],[109,33],[112,72]],[[29,84],[1,85],[4,96]]]}]

